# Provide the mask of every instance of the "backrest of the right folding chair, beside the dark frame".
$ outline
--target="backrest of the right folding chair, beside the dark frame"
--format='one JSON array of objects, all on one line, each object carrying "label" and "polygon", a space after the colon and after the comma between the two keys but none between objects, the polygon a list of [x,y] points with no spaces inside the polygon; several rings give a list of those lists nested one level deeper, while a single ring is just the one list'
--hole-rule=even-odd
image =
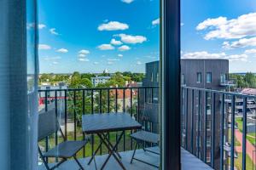
[{"label": "backrest of the right folding chair, beside the dark frame", "polygon": [[156,103],[145,103],[143,105],[143,122],[153,122],[154,124],[159,123],[159,104]]}]

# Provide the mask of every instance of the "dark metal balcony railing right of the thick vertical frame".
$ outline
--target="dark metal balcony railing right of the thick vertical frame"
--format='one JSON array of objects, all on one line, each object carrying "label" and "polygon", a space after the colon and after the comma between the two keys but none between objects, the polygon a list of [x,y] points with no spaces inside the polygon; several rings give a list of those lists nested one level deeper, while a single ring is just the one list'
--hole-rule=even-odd
[{"label": "dark metal balcony railing right of the thick vertical frame", "polygon": [[[247,114],[247,101],[255,102],[256,96],[189,87],[182,87],[181,95],[183,148],[214,169],[255,169],[255,142],[248,134],[254,141],[256,135],[247,132],[247,118],[256,117]],[[255,129],[255,122],[251,125]]]}]

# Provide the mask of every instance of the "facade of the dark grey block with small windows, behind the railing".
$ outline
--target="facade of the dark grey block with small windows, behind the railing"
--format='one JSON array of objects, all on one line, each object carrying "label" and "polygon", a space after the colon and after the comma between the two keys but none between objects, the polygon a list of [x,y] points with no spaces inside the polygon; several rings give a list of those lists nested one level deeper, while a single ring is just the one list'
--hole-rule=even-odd
[{"label": "facade of the dark grey block with small windows, behind the railing", "polygon": [[[154,61],[150,63],[146,63],[146,75],[143,80],[143,86],[159,86],[159,61]],[[234,84],[230,83],[229,81],[229,60],[228,59],[181,59],[181,84],[182,86],[186,87],[193,87],[193,88],[206,88],[206,89],[212,89],[212,90],[219,90],[224,91],[228,90],[230,86],[233,86]],[[201,95],[201,103],[199,104],[198,98],[199,94],[197,91],[194,92],[194,106],[190,105],[192,103],[192,92],[189,91],[189,94],[186,94],[186,92],[183,92],[183,101],[186,98],[186,95],[189,96],[188,103],[188,120],[185,120],[188,122],[189,132],[182,132],[183,134],[187,134],[188,140],[191,141],[191,138],[193,138],[193,141],[199,141],[199,144],[197,142],[194,142],[193,145],[191,143],[188,144],[189,150],[193,150],[193,153],[197,153],[197,150],[200,150],[199,157],[207,157],[207,162],[211,162],[211,149],[212,149],[212,119],[214,118],[214,161],[215,165],[219,165],[220,157],[219,157],[219,144],[220,144],[220,96],[215,96],[215,114],[212,116],[212,94],[200,94]],[[141,102],[150,101],[150,95],[147,97],[147,95],[150,94],[145,92],[141,92],[140,95],[142,95]],[[207,98],[205,100],[205,98]],[[159,91],[154,92],[154,101],[159,101]],[[207,104],[205,103],[207,101]],[[183,103],[183,107],[186,105]],[[207,105],[204,107],[204,105]],[[193,108],[193,111],[192,111]],[[200,110],[200,120],[198,120],[198,113]],[[183,111],[183,117],[186,111]],[[192,125],[192,119],[193,119],[193,125]],[[204,120],[207,120],[204,122]],[[200,122],[200,136],[198,136],[197,133],[197,125],[198,121]],[[184,122],[184,121],[183,121]],[[228,124],[228,114],[226,114],[225,117],[225,123]],[[185,124],[182,124],[182,129],[185,129]],[[207,132],[204,131],[203,127],[207,127]],[[226,128],[227,129],[227,128]],[[207,141],[205,141],[204,135],[207,133]],[[192,137],[193,136],[193,137]],[[224,132],[224,139],[225,136],[228,136],[228,130],[225,130]],[[184,137],[184,135],[183,135]],[[199,140],[197,140],[199,138]],[[184,139],[183,139],[184,141]],[[206,145],[207,153],[204,153],[203,149]],[[199,148],[198,148],[199,146]],[[192,149],[193,147],[193,149]],[[205,156],[206,154],[206,156]],[[219,167],[217,166],[216,169]]]}]

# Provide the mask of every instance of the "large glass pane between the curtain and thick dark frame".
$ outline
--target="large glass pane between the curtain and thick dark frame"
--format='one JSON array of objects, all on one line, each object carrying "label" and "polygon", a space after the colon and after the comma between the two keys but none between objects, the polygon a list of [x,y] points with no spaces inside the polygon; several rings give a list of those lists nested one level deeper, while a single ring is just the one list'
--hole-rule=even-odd
[{"label": "large glass pane between the curtain and thick dark frame", "polygon": [[[83,116],[126,114],[142,130],[128,127],[123,133],[123,127],[113,131],[109,127],[104,139],[112,147],[117,144],[114,150],[124,153],[125,161],[131,161],[128,154],[137,146],[135,156],[158,167],[160,156],[144,153],[143,147],[159,153],[159,138],[138,140],[137,145],[132,134],[139,131],[155,137],[161,133],[160,1],[39,0],[38,31],[39,113],[54,110],[68,140],[89,136]],[[39,145],[49,150],[62,141],[61,133],[55,133]],[[96,156],[109,153],[93,133],[77,157],[88,159],[95,151]],[[116,162],[108,164],[119,168]],[[88,167],[93,166],[92,162]],[[131,167],[136,169],[137,162]]]}]

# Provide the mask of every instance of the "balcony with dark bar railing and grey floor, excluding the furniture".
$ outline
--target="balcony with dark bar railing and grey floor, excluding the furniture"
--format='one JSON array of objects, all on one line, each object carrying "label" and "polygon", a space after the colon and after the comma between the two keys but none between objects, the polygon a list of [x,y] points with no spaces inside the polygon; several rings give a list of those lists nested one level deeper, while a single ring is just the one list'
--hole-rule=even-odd
[{"label": "balcony with dark bar railing and grey floor, excluding the furniture", "polygon": [[[141,122],[143,104],[158,101],[158,87],[139,88],[83,88],[83,89],[54,89],[39,90],[41,112],[54,109],[60,117],[61,129],[68,139],[81,140],[84,134],[81,130],[81,116],[98,112],[128,112]],[[255,167],[256,151],[253,145],[255,132],[243,133],[247,128],[247,99],[255,96],[226,93],[209,89],[182,87],[182,148],[181,163],[183,169],[232,169]],[[230,99],[230,104],[227,101]],[[236,116],[236,99],[244,101],[243,118]],[[210,110],[210,111],[209,111]],[[209,122],[209,123],[208,123]],[[142,123],[142,122],[141,122]],[[229,126],[230,125],[230,126]],[[143,124],[145,130],[157,132],[157,125],[152,122]],[[236,129],[237,127],[237,129]],[[130,164],[135,141],[130,138],[131,131],[125,132],[124,138],[118,146],[122,161],[127,169],[157,169],[139,161]],[[110,140],[116,141],[119,132],[110,133]],[[251,139],[250,139],[251,138]],[[39,144],[44,150],[49,150],[61,141],[59,134],[44,139]],[[239,143],[239,144],[238,144]],[[92,137],[91,144],[87,144],[79,151],[78,157],[86,169],[95,169],[87,162],[96,150],[99,139]],[[152,144],[145,147],[156,149]],[[108,151],[105,147],[96,156],[97,167],[101,167]],[[137,150],[137,156],[146,161],[159,164],[160,156]],[[54,164],[55,159],[48,160]],[[39,160],[38,164],[42,164]],[[45,169],[44,165],[39,165]],[[61,165],[60,169],[73,169],[77,165],[73,160]],[[110,159],[105,169],[119,169],[117,162]]]}]

